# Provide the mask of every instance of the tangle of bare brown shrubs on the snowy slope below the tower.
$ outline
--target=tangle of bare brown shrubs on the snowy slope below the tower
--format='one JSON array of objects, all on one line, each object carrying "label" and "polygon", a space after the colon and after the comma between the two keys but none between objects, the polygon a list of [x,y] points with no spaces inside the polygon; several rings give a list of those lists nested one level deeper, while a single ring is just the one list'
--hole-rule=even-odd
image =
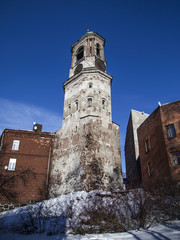
[{"label": "tangle of bare brown shrubs on the snowy slope below the tower", "polygon": [[153,201],[142,190],[106,195],[99,192],[86,199],[79,220],[79,227],[73,229],[75,234],[148,229],[155,221]]}]

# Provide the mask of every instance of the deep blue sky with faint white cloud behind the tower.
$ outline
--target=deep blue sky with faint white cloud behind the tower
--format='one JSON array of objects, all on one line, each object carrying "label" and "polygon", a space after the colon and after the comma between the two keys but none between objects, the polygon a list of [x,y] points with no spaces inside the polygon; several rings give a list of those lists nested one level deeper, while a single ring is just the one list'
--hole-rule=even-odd
[{"label": "deep blue sky with faint white cloud behind the tower", "polygon": [[180,99],[179,0],[0,0],[0,132],[61,127],[71,45],[87,28],[106,39],[124,170],[130,110]]}]

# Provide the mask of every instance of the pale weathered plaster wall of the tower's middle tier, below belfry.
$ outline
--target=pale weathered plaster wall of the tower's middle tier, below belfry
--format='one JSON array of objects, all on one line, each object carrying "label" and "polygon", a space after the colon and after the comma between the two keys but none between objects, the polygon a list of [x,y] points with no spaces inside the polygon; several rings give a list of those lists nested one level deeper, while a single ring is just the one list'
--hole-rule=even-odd
[{"label": "pale weathered plaster wall of the tower's middle tier, below belfry", "polygon": [[[79,119],[87,115],[103,118],[103,123],[111,122],[111,81],[112,77],[99,70],[83,71],[71,81],[64,83],[65,100],[63,129],[72,124],[78,124]],[[89,88],[89,84],[92,87]],[[92,98],[92,106],[88,107],[88,98]],[[105,100],[105,107],[102,100]],[[78,110],[76,109],[78,101]],[[69,106],[71,110],[69,111]]]}]

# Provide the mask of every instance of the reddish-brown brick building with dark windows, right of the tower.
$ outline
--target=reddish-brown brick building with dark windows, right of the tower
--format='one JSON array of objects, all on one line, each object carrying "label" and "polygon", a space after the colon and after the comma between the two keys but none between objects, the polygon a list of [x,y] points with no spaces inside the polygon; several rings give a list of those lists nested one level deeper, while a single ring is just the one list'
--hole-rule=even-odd
[{"label": "reddish-brown brick building with dark windows, right of the tower", "polygon": [[156,108],[137,132],[143,186],[180,181],[180,101]]}]

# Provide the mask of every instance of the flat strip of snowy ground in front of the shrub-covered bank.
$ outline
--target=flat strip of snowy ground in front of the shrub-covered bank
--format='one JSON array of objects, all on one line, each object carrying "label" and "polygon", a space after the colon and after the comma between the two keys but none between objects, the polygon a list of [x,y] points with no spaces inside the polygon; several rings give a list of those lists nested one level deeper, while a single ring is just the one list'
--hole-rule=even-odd
[{"label": "flat strip of snowy ground in front of the shrub-covered bank", "polygon": [[21,235],[16,233],[0,232],[1,240],[179,240],[180,239],[180,221],[173,221],[165,225],[157,224],[149,230],[130,231],[127,233],[105,233],[105,234],[86,234],[81,235],[63,235],[57,234],[47,236],[46,234],[28,234]]}]

